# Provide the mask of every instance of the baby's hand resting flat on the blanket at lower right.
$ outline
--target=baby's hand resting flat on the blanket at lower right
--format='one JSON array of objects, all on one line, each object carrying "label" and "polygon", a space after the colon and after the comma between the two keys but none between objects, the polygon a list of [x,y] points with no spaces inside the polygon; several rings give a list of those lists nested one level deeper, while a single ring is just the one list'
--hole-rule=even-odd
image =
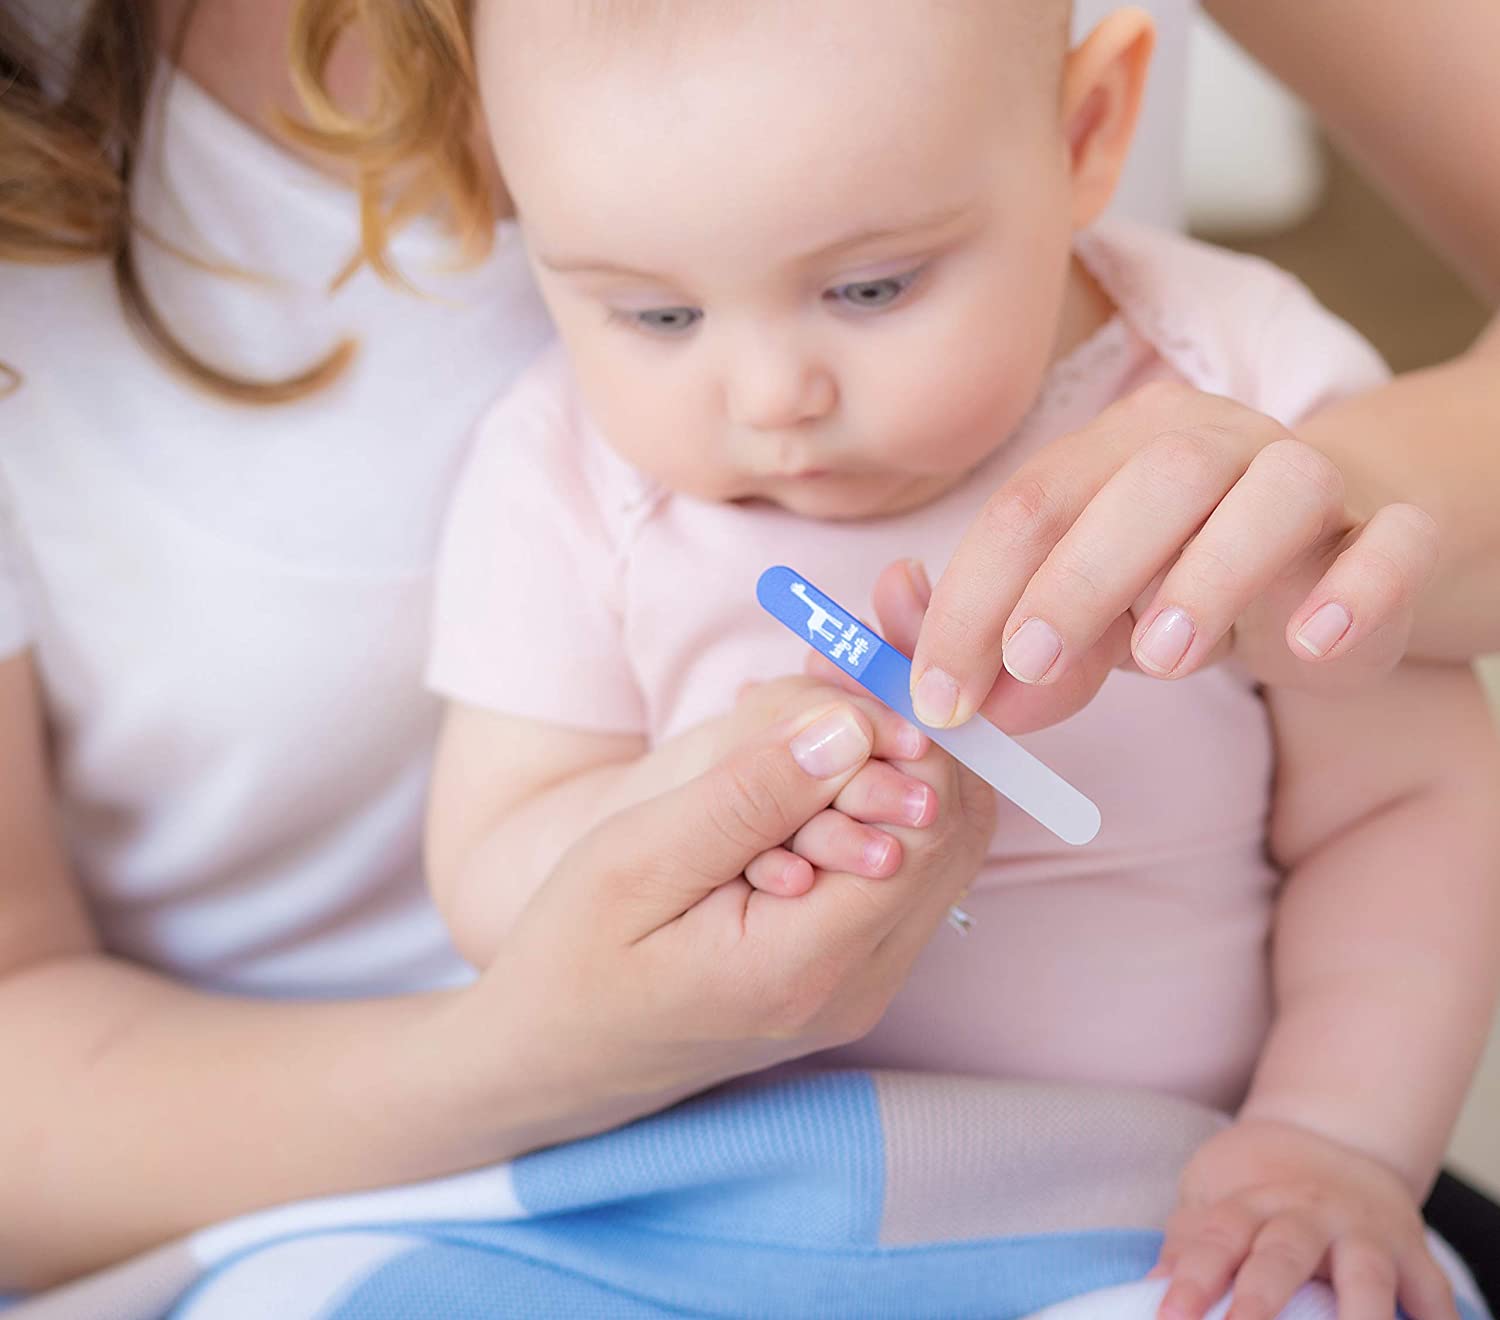
[{"label": "baby's hand resting flat on the blanket at lower right", "polygon": [[1422,1215],[1384,1164],[1290,1124],[1242,1119],[1204,1142],[1152,1275],[1170,1275],[1160,1320],[1198,1320],[1233,1286],[1226,1320],[1274,1320],[1328,1280],[1340,1320],[1456,1320]]}]

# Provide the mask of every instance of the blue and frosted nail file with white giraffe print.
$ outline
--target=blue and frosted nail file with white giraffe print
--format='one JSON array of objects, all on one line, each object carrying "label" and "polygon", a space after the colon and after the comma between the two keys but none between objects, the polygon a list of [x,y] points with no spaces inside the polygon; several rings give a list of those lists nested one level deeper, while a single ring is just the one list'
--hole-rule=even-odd
[{"label": "blue and frosted nail file with white giraffe print", "polygon": [[766,568],[756,584],[756,598],[819,656],[832,660],[1060,840],[1088,843],[1100,832],[1100,808],[988,720],[975,717],[957,729],[922,724],[912,711],[912,662],[806,578],[784,566]]}]

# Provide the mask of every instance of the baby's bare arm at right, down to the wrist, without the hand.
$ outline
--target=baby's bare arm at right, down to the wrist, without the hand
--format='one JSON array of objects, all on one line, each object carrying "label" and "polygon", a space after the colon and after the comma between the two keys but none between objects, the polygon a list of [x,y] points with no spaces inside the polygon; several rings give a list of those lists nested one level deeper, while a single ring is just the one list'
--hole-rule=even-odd
[{"label": "baby's bare arm at right, down to the wrist, without the hand", "polygon": [[1467,668],[1275,692],[1276,1012],[1244,1114],[1354,1146],[1420,1197],[1500,976],[1500,758]]}]

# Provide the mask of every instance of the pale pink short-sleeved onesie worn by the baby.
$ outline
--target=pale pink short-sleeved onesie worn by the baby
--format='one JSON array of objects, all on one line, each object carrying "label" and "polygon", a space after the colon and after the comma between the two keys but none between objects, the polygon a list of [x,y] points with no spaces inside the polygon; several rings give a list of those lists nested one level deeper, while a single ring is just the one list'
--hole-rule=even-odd
[{"label": "pale pink short-sleeved onesie worn by the baby", "polygon": [[[800,672],[806,648],[762,614],[784,562],[854,609],[876,573],[936,578],[984,500],[1048,440],[1150,380],[1174,378],[1294,424],[1384,368],[1264,262],[1110,225],[1080,260],[1119,308],[1053,368],[970,480],[912,513],[820,524],[656,486],[584,416],[560,351],[498,404],[450,514],[430,684],[496,712],[670,738],[741,682]],[[834,1060],[1146,1086],[1224,1108],[1269,1018],[1266,860],[1275,748],[1232,666],[1182,682],[1113,675],[1066,723],[1022,740],[1092,796],[1098,838],[1070,848],[1000,802],[988,862],[882,1023]]]}]

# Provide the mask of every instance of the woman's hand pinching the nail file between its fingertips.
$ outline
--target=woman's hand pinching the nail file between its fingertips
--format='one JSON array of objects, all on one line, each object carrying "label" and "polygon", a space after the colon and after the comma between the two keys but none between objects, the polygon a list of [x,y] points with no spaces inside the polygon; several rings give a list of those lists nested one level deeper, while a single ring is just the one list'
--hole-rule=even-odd
[{"label": "woman's hand pinching the nail file between its fingertips", "polygon": [[1358,681],[1401,658],[1436,556],[1426,514],[1359,520],[1338,468],[1269,417],[1148,386],[990,496],[932,592],[912,702],[936,728],[982,710],[1026,732],[1114,668],[1180,678],[1230,650],[1278,686]]}]

